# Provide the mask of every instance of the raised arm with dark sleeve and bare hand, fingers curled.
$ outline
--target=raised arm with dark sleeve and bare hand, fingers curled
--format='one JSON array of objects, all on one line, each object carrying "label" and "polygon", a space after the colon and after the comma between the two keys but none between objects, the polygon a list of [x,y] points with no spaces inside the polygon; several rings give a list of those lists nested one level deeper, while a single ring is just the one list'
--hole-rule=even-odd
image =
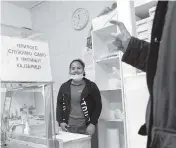
[{"label": "raised arm with dark sleeve and bare hand, fingers curled", "polygon": [[111,20],[110,23],[117,25],[120,32],[112,33],[112,44],[124,55],[122,61],[142,71],[146,71],[146,63],[150,43],[132,37],[122,22]]}]

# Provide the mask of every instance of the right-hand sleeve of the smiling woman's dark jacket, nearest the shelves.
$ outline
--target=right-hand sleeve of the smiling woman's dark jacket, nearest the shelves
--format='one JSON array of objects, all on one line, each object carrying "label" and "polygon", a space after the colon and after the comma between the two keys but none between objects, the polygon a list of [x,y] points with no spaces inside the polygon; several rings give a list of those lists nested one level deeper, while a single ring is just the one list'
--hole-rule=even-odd
[{"label": "right-hand sleeve of the smiling woman's dark jacket, nearest the shelves", "polygon": [[92,95],[93,95],[93,98],[95,99],[96,107],[95,107],[95,110],[92,113],[92,116],[90,117],[90,123],[96,125],[98,123],[98,119],[99,119],[100,114],[101,114],[102,102],[101,102],[100,91],[99,91],[99,89],[98,89],[98,87],[95,83],[93,83]]}]

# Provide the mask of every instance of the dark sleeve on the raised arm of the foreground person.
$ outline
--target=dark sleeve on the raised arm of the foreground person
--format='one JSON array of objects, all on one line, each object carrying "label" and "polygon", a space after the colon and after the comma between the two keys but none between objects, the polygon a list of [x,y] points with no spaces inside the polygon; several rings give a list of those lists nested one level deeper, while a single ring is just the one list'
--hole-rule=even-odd
[{"label": "dark sleeve on the raised arm of the foreground person", "polygon": [[146,72],[149,48],[150,43],[132,37],[127,50],[123,54],[122,61]]}]

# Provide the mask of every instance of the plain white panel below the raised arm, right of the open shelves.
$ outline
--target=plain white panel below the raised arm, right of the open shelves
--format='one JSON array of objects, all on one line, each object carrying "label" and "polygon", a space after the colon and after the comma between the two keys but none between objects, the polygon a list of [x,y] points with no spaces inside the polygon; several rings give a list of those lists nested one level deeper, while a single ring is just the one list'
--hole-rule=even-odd
[{"label": "plain white panel below the raised arm, right of the open shelves", "polygon": [[124,88],[129,148],[144,148],[147,138],[138,135],[138,130],[145,123],[149,98],[146,75],[126,77]]}]

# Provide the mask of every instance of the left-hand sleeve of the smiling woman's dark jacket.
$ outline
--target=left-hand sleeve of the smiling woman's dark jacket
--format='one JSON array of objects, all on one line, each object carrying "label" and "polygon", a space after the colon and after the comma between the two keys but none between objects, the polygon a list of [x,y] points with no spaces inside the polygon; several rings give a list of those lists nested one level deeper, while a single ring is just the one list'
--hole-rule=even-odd
[{"label": "left-hand sleeve of the smiling woman's dark jacket", "polygon": [[58,96],[57,96],[57,105],[56,105],[56,120],[59,123],[62,123],[62,106],[63,105],[63,100],[62,100],[62,86],[59,89]]}]

